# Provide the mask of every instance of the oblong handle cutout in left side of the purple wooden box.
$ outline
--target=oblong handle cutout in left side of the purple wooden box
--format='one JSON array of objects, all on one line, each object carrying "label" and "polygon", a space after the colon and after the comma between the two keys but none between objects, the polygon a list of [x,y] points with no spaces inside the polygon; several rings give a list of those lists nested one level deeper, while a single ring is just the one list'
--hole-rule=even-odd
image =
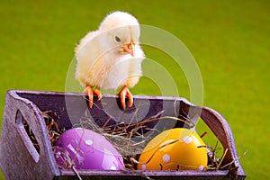
[{"label": "oblong handle cutout in left side of the purple wooden box", "polygon": [[40,144],[20,110],[16,113],[15,121],[25,147],[29,151],[33,160],[37,163],[40,159]]}]

